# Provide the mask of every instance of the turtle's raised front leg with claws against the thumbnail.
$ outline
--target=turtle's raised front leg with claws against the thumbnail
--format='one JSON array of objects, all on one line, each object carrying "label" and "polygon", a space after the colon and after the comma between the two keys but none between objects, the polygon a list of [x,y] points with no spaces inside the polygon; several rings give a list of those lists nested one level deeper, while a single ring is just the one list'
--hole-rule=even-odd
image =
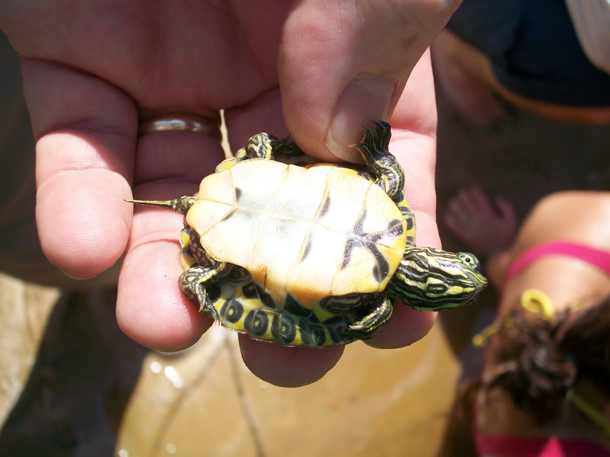
[{"label": "turtle's raised front leg with claws against the thumbnail", "polygon": [[361,127],[364,137],[361,143],[352,146],[362,155],[367,165],[367,171],[375,176],[375,183],[386,194],[394,198],[404,187],[404,172],[396,158],[389,152],[390,124],[384,121],[371,121],[375,130]]}]

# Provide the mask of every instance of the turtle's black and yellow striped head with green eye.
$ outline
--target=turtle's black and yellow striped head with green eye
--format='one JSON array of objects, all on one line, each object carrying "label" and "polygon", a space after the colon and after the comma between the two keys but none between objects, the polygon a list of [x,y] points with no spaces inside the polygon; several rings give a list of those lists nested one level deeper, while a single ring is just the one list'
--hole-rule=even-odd
[{"label": "turtle's black and yellow striped head with green eye", "polygon": [[387,293],[420,311],[439,311],[473,302],[486,288],[479,261],[467,252],[429,247],[407,249]]}]

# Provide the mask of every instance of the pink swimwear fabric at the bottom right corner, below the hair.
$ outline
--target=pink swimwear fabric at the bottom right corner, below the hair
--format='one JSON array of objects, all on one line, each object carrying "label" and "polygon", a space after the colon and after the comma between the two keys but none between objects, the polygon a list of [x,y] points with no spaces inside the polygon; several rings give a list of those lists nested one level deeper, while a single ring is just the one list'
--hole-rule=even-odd
[{"label": "pink swimwear fabric at the bottom right corner, below the hair", "polygon": [[476,434],[479,455],[503,457],[609,457],[610,451],[598,444],[580,439],[522,438],[500,434]]}]

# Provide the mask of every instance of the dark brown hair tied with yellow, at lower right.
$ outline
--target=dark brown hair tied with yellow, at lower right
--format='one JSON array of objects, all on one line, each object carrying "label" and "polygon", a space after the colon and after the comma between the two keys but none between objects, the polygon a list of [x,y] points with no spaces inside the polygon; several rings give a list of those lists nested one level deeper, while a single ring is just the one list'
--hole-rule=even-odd
[{"label": "dark brown hair tied with yellow, at lower right", "polygon": [[580,377],[610,394],[610,296],[552,320],[512,311],[492,336],[489,356],[481,387],[504,389],[539,423],[561,413]]}]

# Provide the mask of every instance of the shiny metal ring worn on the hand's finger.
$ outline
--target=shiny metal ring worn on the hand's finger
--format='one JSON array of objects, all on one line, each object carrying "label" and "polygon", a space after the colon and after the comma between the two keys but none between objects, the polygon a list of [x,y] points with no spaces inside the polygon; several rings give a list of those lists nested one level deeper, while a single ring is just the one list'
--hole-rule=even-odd
[{"label": "shiny metal ring worn on the hand's finger", "polygon": [[157,132],[204,133],[220,140],[220,118],[182,113],[140,116],[138,121],[138,136]]}]

